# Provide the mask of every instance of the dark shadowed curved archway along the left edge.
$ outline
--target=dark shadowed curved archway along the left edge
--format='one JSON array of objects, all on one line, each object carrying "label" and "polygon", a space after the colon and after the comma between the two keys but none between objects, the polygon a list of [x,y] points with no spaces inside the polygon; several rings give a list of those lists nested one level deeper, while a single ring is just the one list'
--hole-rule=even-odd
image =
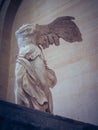
[{"label": "dark shadowed curved archway along the left edge", "polygon": [[6,100],[9,81],[11,31],[21,0],[0,0],[0,100]]}]

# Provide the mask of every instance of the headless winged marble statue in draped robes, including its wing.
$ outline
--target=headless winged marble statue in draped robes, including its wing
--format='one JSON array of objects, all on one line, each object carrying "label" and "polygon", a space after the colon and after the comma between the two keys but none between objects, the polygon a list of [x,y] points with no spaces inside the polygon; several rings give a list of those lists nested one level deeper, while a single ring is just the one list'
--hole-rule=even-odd
[{"label": "headless winged marble statue in draped robes, including its wing", "polygon": [[59,39],[82,41],[81,33],[70,16],[59,17],[50,24],[25,24],[15,33],[19,48],[15,68],[15,102],[53,113],[50,88],[57,83],[55,72],[47,66],[43,49],[59,45]]}]

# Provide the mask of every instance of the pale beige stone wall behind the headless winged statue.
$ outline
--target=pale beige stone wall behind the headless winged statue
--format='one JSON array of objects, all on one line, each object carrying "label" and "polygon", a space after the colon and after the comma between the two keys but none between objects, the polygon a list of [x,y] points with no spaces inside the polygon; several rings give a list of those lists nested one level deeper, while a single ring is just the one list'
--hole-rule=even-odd
[{"label": "pale beige stone wall behind the headless winged statue", "polygon": [[[74,16],[83,42],[67,43],[44,51],[58,83],[52,90],[54,113],[98,125],[98,1],[24,0],[17,12],[12,33],[8,100],[14,101],[15,30],[24,23],[46,24],[58,16]],[[51,52],[51,53],[50,53]]]}]

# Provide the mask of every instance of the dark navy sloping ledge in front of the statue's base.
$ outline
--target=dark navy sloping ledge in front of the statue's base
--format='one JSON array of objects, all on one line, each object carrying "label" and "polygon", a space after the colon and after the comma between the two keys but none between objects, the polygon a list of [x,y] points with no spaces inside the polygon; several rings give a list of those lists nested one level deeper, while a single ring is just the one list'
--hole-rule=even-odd
[{"label": "dark navy sloping ledge in front of the statue's base", "polygon": [[98,130],[98,126],[0,101],[0,130]]}]

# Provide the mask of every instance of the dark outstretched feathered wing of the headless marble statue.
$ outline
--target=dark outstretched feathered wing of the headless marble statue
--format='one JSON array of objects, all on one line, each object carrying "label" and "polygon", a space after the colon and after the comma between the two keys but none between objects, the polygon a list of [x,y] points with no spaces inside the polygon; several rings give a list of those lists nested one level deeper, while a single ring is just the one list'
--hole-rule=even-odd
[{"label": "dark outstretched feathered wing of the headless marble statue", "polygon": [[49,45],[59,45],[59,39],[62,38],[67,42],[80,42],[82,35],[78,26],[71,16],[58,17],[56,20],[47,25],[36,25],[34,37],[37,45],[44,49]]}]

